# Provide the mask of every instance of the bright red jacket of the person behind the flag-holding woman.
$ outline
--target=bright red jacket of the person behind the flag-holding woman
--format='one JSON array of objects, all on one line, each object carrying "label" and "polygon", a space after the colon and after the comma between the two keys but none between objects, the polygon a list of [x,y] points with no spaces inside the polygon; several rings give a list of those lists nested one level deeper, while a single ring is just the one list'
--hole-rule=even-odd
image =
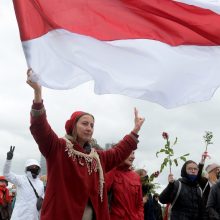
[{"label": "bright red jacket of the person behind the flag-holding woman", "polygon": [[106,174],[110,191],[111,220],[143,220],[143,198],[140,176],[129,169],[118,167]]}]

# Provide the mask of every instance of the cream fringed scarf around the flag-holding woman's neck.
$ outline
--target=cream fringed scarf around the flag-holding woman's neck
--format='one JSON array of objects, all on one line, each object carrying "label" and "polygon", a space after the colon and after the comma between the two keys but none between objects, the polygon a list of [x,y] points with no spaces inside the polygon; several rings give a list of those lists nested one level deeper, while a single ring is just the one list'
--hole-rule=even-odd
[{"label": "cream fringed scarf around the flag-holding woman's neck", "polygon": [[104,174],[102,165],[100,162],[100,158],[98,153],[94,148],[91,149],[90,154],[84,154],[80,151],[77,151],[73,148],[73,144],[70,140],[68,140],[66,137],[63,137],[63,139],[66,141],[66,149],[68,156],[72,158],[73,161],[78,161],[78,163],[81,166],[87,166],[89,175],[92,174],[92,172],[99,172],[99,195],[101,198],[101,201],[103,201],[103,188],[104,188]]}]

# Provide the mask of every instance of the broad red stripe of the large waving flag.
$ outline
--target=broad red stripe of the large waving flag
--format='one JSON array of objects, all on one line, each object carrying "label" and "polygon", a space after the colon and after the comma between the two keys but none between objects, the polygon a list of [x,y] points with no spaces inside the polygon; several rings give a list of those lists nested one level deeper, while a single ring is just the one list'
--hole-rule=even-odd
[{"label": "broad red stripe of the large waving flag", "polygon": [[62,28],[100,40],[220,45],[220,15],[171,0],[14,0],[21,40]]}]

